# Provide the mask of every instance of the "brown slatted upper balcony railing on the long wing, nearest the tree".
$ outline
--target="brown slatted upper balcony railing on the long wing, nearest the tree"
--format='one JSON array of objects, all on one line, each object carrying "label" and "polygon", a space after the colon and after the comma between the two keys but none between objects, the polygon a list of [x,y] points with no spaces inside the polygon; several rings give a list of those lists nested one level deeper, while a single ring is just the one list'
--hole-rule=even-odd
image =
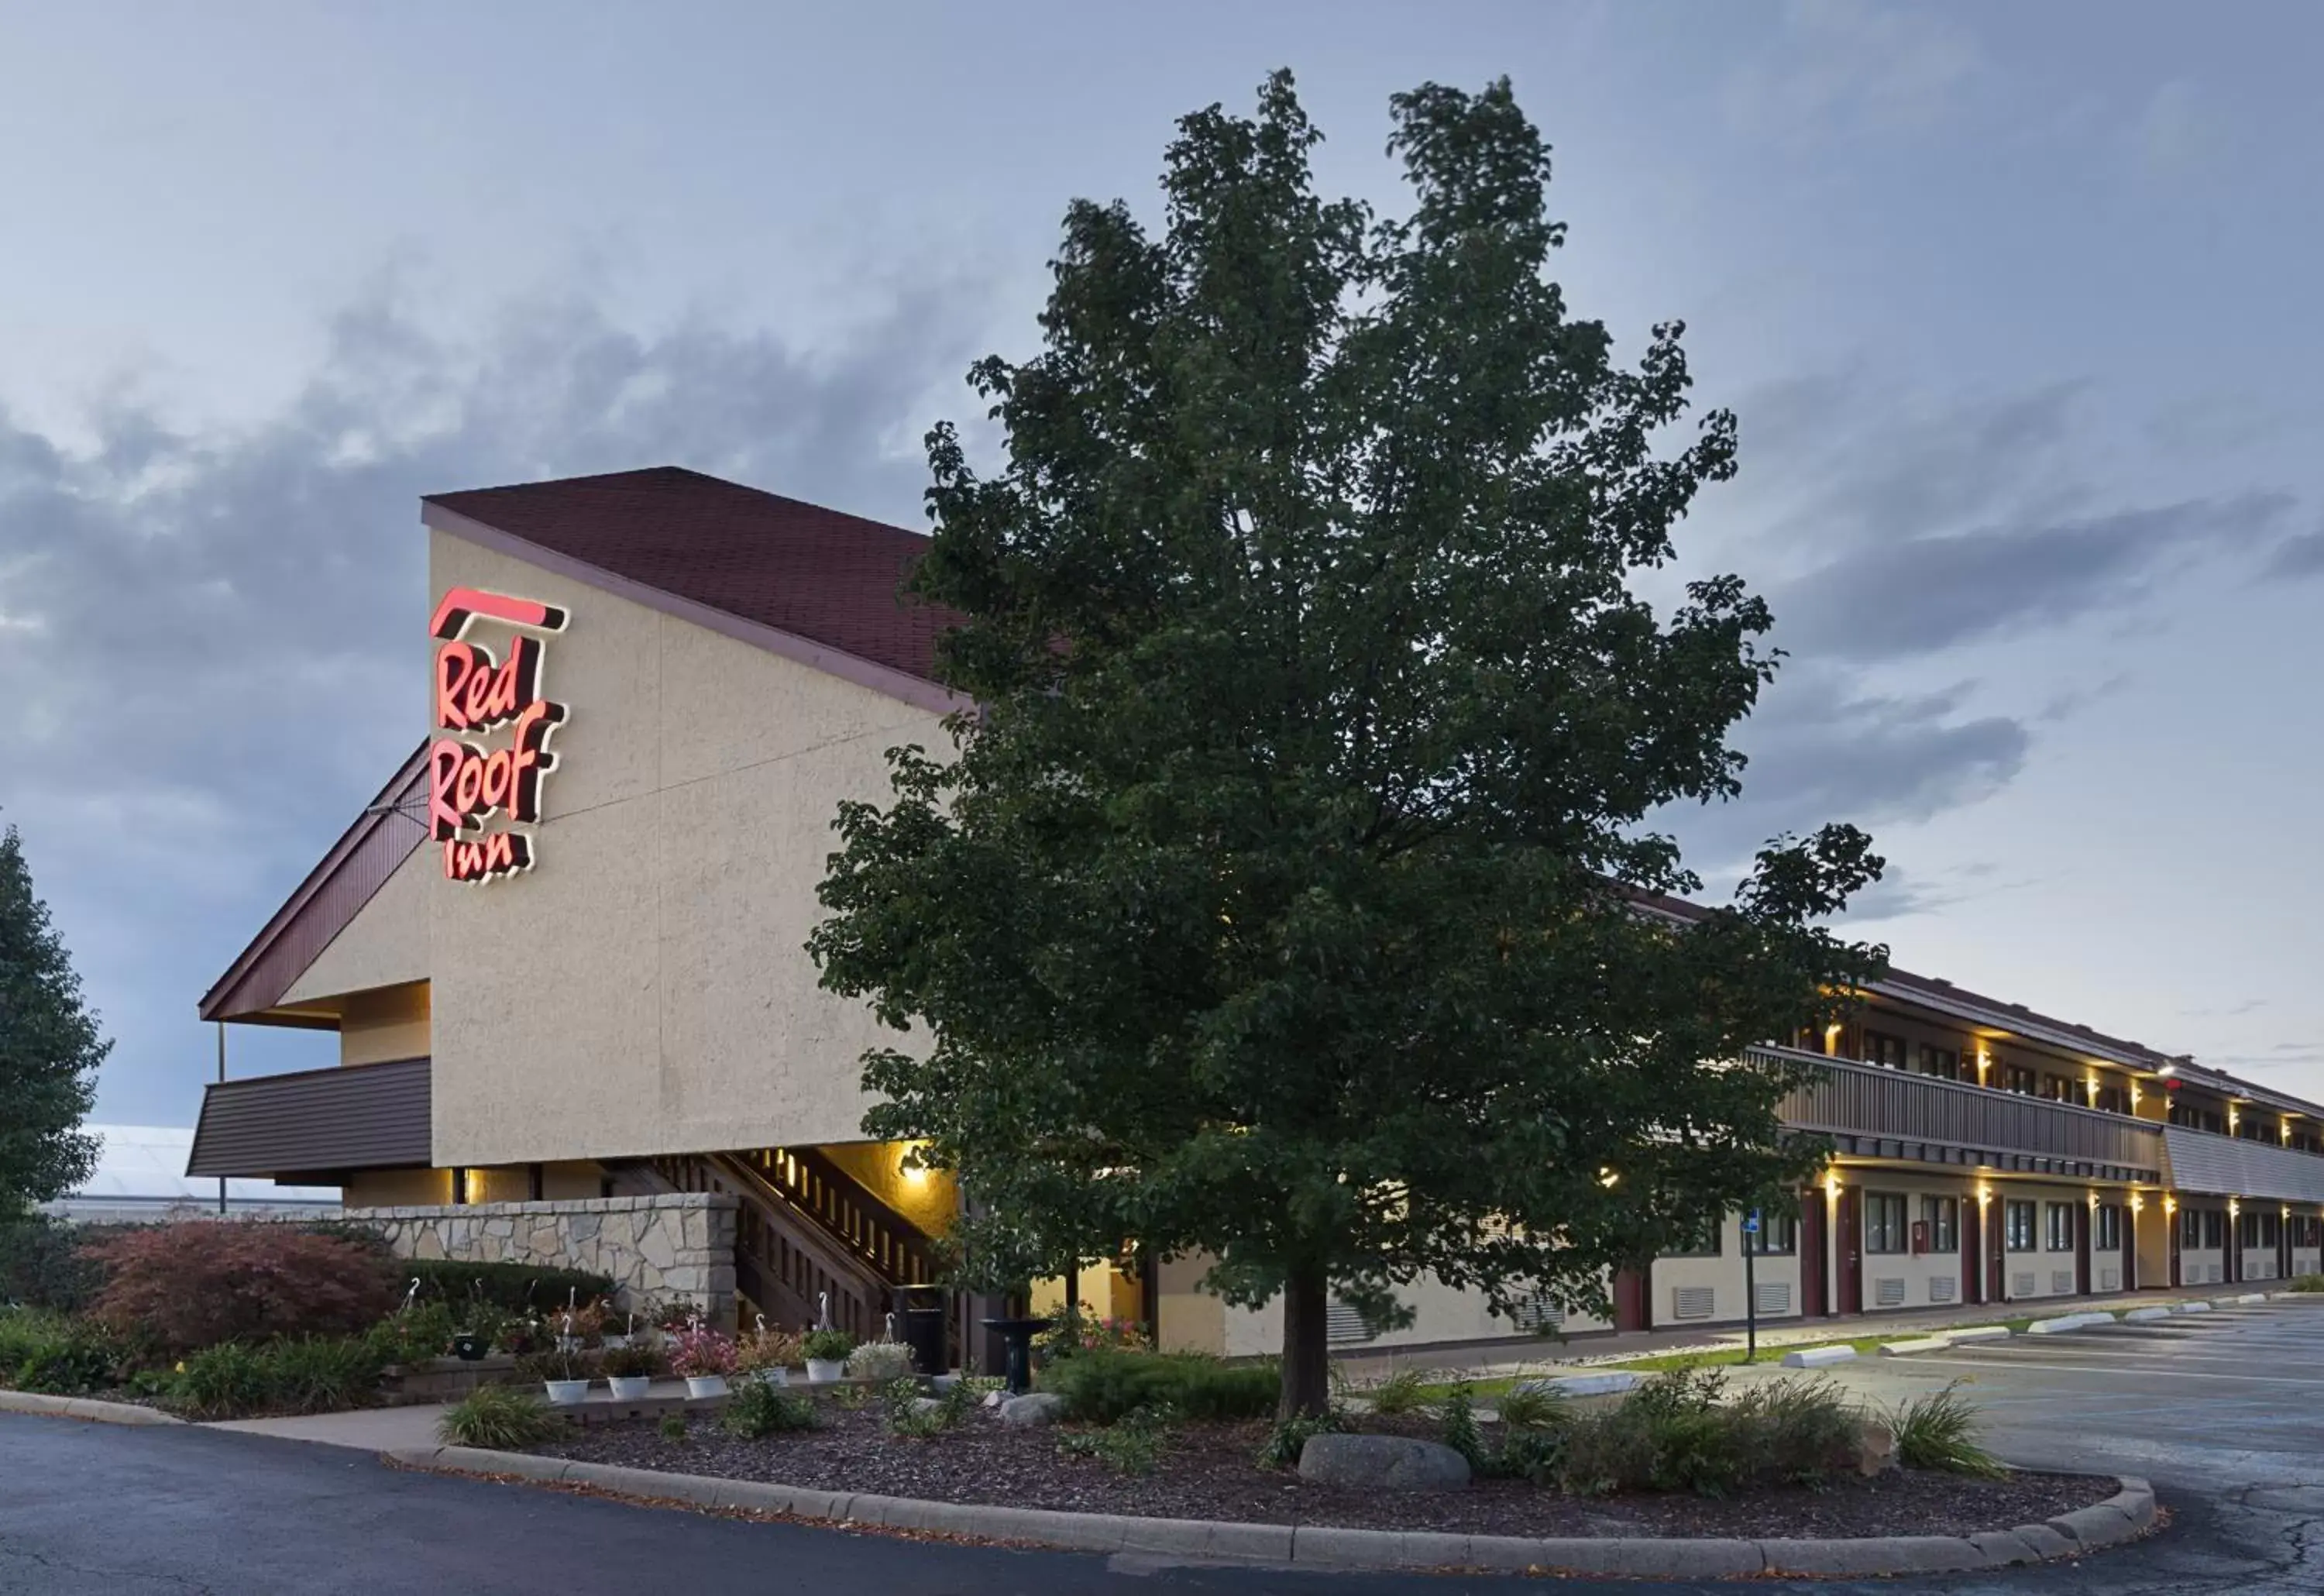
[{"label": "brown slatted upper balcony railing on the long wing, nearest the tree", "polygon": [[1815,1078],[1787,1092],[1778,1113],[1852,1152],[2115,1180],[2164,1171],[2161,1127],[2143,1120],[1792,1048],[1750,1048],[1748,1057],[1810,1064]]}]

